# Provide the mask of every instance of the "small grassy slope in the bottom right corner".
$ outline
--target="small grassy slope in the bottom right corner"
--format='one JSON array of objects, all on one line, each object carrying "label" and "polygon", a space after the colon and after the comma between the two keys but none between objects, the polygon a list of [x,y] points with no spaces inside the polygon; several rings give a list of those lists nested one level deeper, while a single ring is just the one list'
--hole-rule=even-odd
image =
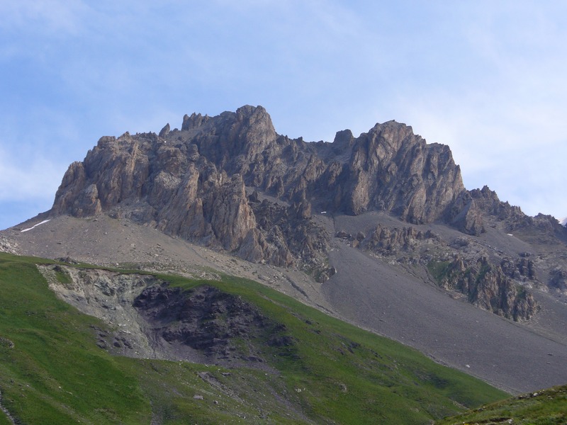
[{"label": "small grassy slope in the bottom right corner", "polygon": [[436,421],[435,424],[565,425],[567,385],[488,404],[471,412]]}]

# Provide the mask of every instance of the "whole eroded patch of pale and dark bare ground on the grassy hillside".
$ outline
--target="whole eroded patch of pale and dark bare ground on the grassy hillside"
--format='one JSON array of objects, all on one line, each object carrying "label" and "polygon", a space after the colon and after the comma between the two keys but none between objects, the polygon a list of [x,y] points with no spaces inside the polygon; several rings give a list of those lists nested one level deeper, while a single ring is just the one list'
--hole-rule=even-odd
[{"label": "whole eroded patch of pale and dark bare ground on the grassy hillside", "polygon": [[151,275],[60,265],[39,269],[60,298],[111,326],[113,331],[95,329],[98,346],[111,353],[260,368],[266,349],[293,354],[284,324],[211,285],[182,290]]}]

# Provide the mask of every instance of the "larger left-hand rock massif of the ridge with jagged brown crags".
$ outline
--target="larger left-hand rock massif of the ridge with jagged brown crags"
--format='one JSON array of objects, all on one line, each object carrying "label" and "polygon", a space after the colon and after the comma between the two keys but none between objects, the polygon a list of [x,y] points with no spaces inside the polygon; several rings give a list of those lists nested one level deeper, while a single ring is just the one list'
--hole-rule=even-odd
[{"label": "larger left-hand rock massif of the ridge with jagged brown crags", "polygon": [[278,137],[266,111],[249,106],[214,118],[186,115],[181,131],[166,125],[159,136],[102,137],[84,162],[69,166],[51,213],[128,217],[249,261],[317,268],[327,243],[302,233],[326,239],[310,204],[254,208],[245,190],[259,176],[283,181]]}]

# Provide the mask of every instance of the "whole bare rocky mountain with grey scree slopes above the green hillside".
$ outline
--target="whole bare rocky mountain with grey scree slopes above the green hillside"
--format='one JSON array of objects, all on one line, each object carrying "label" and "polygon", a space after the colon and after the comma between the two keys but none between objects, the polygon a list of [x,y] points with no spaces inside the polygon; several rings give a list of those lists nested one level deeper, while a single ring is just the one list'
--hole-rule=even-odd
[{"label": "whole bare rocky mountain with grey scree slopes above the green hillside", "polygon": [[[67,263],[252,278],[512,392],[567,380],[566,244],[554,217],[466,189],[449,147],[408,125],[305,142],[261,106],[101,137],[51,210],[0,234],[2,251]],[[145,292],[137,307],[158,295],[172,294]],[[221,310],[244,308],[227,300]],[[187,334],[152,332],[167,344]],[[218,359],[223,344],[193,354]]]}]

